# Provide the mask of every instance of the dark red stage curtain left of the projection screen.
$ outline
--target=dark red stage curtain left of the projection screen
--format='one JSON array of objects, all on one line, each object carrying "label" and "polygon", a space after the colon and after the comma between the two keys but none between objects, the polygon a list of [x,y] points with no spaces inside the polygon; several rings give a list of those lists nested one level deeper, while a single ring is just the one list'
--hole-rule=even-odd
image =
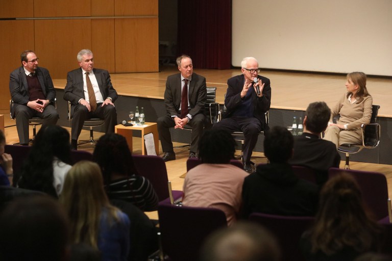
[{"label": "dark red stage curtain left of the projection screen", "polygon": [[178,1],[178,55],[189,55],[195,68],[230,69],[231,6],[231,0]]}]

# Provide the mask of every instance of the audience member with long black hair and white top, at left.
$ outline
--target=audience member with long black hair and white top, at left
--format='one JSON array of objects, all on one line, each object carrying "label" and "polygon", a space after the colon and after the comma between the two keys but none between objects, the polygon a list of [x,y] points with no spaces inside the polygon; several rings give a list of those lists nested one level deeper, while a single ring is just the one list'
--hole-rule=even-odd
[{"label": "audience member with long black hair and white top, at left", "polygon": [[18,187],[41,191],[57,198],[70,168],[68,131],[58,125],[43,126],[23,163]]}]

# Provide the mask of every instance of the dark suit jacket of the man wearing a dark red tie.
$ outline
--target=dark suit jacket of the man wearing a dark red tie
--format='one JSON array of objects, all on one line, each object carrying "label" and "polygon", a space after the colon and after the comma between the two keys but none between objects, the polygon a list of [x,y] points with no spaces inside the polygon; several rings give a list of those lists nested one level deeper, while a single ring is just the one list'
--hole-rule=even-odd
[{"label": "dark suit jacket of the man wearing a dark red tie", "polygon": [[[177,115],[181,105],[181,73],[173,74],[167,77],[164,102],[166,111],[169,116]],[[205,77],[192,73],[192,81],[189,83],[188,99],[190,104],[189,114],[194,116],[198,113],[204,113],[206,103],[207,89]]]}]

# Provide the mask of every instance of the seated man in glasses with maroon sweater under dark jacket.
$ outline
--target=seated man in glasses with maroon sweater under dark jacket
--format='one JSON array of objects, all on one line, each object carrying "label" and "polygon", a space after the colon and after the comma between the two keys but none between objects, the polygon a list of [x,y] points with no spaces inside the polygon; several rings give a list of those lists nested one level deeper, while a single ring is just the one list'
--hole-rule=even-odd
[{"label": "seated man in glasses with maroon sweater under dark jacket", "polygon": [[10,93],[14,105],[11,116],[16,118],[19,143],[29,144],[29,119],[44,119],[42,126],[56,124],[59,118],[53,106],[56,92],[51,75],[45,68],[38,67],[34,51],[26,50],[20,55],[22,66],[10,74]]}]

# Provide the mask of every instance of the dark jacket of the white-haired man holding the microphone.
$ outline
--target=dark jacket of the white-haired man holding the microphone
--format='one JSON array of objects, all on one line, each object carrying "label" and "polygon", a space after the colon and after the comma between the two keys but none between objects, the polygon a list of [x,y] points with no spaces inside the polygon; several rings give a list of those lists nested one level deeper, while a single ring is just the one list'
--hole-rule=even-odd
[{"label": "dark jacket of the white-haired man holding the microphone", "polygon": [[[250,90],[252,91],[251,98],[253,104],[253,114],[255,118],[263,123],[263,129],[265,130],[267,127],[265,124],[265,112],[268,111],[269,107],[271,106],[271,82],[268,78],[260,75],[258,75],[257,78],[262,81],[264,88],[263,96],[261,98],[257,97],[255,91]],[[240,94],[243,89],[244,81],[243,74],[231,77],[229,80],[227,80],[228,88],[225,98],[227,113],[225,113],[225,118],[231,117],[236,108],[241,104],[242,99]]]}]

